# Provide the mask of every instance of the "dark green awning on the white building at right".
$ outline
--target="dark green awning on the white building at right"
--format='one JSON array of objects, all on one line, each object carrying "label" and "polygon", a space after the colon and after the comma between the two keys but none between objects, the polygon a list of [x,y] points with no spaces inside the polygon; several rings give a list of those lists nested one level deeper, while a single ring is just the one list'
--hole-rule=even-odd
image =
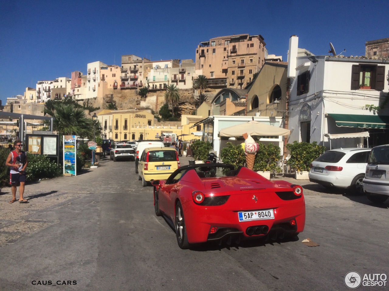
[{"label": "dark green awning on the white building at right", "polygon": [[332,113],[328,113],[328,115],[335,120],[336,126],[389,128],[389,116]]}]

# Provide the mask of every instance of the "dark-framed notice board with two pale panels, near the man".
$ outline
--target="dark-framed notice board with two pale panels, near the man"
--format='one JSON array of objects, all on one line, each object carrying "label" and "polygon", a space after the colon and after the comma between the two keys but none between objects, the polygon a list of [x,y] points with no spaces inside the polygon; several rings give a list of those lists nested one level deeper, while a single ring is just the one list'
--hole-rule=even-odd
[{"label": "dark-framed notice board with two pale panels, near the man", "polygon": [[25,151],[58,158],[58,137],[56,134],[26,134]]}]

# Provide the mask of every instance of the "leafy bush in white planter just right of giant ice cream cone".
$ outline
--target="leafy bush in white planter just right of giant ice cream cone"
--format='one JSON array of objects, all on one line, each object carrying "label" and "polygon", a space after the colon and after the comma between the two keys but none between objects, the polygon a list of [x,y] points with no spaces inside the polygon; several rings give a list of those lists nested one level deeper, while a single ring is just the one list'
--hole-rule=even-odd
[{"label": "leafy bush in white planter just right of giant ice cream cone", "polygon": [[270,179],[270,172],[277,170],[277,160],[281,149],[272,143],[264,145],[257,141],[259,149],[254,160],[253,170],[266,179]]}]

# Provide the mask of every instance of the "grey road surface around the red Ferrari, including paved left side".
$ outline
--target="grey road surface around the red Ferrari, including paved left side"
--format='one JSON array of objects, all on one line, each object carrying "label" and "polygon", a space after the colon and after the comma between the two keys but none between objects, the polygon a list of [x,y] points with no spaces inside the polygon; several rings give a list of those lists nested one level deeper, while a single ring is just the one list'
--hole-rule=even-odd
[{"label": "grey road surface around the red Ferrari, including paved left side", "polygon": [[[300,181],[298,239],[182,250],[137,177],[134,162],[106,159],[78,177],[27,185],[29,204],[9,204],[3,189],[0,290],[52,290],[32,284],[49,280],[61,290],[348,290],[349,271],[389,276],[388,201],[377,207]],[[302,244],[308,237],[320,246]],[[358,288],[372,289],[388,287]]]}]

